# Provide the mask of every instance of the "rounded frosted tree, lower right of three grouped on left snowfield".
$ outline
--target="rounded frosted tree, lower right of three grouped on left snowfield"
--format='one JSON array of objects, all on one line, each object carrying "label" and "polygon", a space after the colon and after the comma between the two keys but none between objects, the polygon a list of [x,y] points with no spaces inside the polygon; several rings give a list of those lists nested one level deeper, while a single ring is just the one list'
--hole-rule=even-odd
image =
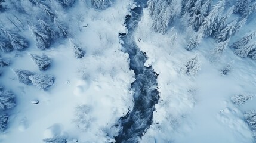
[{"label": "rounded frosted tree, lower right of three grouped on left snowfield", "polygon": [[29,76],[29,79],[36,87],[40,89],[46,89],[49,86],[53,85],[55,78],[48,74],[35,74]]}]

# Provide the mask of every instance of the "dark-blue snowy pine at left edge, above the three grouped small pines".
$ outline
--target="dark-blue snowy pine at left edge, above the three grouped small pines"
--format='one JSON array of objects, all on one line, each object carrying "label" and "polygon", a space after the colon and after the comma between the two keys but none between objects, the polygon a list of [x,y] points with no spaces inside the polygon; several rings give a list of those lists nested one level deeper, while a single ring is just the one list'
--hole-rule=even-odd
[{"label": "dark-blue snowy pine at left edge, above the three grouped small pines", "polygon": [[11,41],[11,45],[14,49],[17,49],[17,51],[23,51],[29,47],[29,42],[20,35],[9,30],[5,30],[3,27],[0,27],[0,31]]}]

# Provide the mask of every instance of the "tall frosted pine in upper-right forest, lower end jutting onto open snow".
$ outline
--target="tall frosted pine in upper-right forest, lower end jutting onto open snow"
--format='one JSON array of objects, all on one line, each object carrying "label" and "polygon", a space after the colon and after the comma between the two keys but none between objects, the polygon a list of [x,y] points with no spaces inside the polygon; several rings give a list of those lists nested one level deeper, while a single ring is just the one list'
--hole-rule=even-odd
[{"label": "tall frosted pine in upper-right forest, lower end jutting onto open snow", "polygon": [[220,0],[217,2],[216,5],[214,5],[212,10],[203,20],[203,23],[201,24],[201,27],[199,27],[199,29],[202,29],[205,37],[211,36],[212,32],[217,29],[218,17],[223,9],[224,1]]}]

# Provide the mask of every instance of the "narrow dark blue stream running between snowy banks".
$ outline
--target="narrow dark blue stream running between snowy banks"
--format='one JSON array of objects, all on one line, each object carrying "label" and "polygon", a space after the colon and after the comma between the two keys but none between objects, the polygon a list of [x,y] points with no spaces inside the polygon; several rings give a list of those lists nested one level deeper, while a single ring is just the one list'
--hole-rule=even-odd
[{"label": "narrow dark blue stream running between snowy banks", "polygon": [[153,111],[155,104],[158,103],[159,94],[156,89],[156,74],[152,67],[145,67],[144,63],[147,60],[146,55],[140,51],[136,45],[134,34],[143,15],[143,8],[146,7],[147,0],[134,0],[137,2],[136,7],[132,9],[131,16],[127,16],[125,20],[128,33],[121,36],[124,44],[122,51],[129,54],[130,69],[134,70],[135,82],[131,88],[134,93],[134,107],[124,117],[121,117],[117,123],[121,127],[118,136],[115,136],[116,142],[138,142],[138,139],[143,136],[143,133],[152,124]]}]

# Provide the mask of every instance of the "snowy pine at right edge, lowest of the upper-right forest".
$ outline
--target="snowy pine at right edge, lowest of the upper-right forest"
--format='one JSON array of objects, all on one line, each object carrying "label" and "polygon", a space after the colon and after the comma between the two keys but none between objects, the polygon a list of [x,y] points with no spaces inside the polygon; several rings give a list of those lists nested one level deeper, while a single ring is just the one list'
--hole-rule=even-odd
[{"label": "snowy pine at right edge, lowest of the upper-right forest", "polygon": [[245,58],[255,48],[256,48],[256,42],[254,42],[252,44],[247,44],[247,45],[244,45],[244,46],[240,46],[238,49],[235,49],[234,53],[236,55],[238,55],[238,57]]}]

